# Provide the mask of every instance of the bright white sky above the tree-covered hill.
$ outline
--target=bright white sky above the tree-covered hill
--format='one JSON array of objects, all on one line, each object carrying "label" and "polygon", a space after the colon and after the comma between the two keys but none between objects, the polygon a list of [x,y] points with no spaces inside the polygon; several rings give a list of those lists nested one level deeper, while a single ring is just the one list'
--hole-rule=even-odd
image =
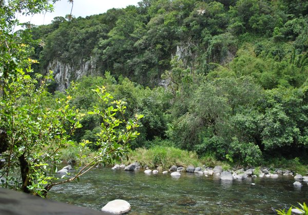
[{"label": "bright white sky above the tree-covered hill", "polygon": [[[128,5],[136,5],[141,0],[73,0],[72,15],[75,17],[86,17],[93,14],[105,13],[111,8],[125,8]],[[31,22],[34,25],[50,24],[54,17],[63,16],[70,13],[71,4],[68,0],[61,0],[54,4],[54,12],[36,14],[34,16],[20,16],[18,19],[21,23]]]}]

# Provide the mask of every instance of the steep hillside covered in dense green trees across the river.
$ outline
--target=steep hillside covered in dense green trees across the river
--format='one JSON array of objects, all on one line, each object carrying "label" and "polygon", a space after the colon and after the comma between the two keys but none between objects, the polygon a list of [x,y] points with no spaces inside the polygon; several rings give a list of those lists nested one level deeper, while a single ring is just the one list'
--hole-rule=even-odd
[{"label": "steep hillside covered in dense green trees across the river", "polygon": [[[246,164],[307,158],[307,1],[144,0],[31,30],[35,69],[54,71],[50,93],[67,89],[87,113],[99,102],[91,89],[104,85],[128,118],[144,115],[132,148]],[[95,142],[101,119],[81,124],[73,140]]]}]

